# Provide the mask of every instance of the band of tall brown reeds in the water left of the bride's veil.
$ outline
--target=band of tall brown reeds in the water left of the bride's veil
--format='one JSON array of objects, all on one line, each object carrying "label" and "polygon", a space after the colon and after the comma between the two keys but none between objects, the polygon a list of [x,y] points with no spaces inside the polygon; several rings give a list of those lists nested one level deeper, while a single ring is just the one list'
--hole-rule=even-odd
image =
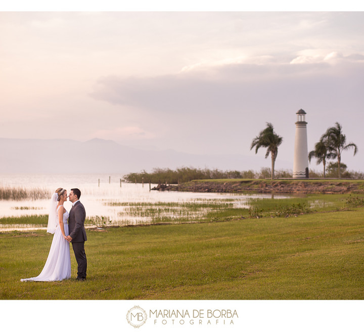
[{"label": "band of tall brown reeds in the water left of the bride's veil", "polygon": [[45,188],[0,187],[0,200],[49,199],[52,193]]}]

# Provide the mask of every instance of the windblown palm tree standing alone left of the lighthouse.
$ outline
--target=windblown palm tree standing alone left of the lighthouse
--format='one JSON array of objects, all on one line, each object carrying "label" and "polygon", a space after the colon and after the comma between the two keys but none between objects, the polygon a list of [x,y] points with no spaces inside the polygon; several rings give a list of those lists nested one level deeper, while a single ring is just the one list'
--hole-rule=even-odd
[{"label": "windblown palm tree standing alone left of the lighthouse", "polygon": [[278,146],[282,143],[283,138],[273,131],[273,125],[267,122],[267,128],[259,133],[252,141],[250,150],[255,147],[255,153],[260,147],[267,148],[265,158],[271,155],[271,179],[274,178],[274,165],[278,154]]}]

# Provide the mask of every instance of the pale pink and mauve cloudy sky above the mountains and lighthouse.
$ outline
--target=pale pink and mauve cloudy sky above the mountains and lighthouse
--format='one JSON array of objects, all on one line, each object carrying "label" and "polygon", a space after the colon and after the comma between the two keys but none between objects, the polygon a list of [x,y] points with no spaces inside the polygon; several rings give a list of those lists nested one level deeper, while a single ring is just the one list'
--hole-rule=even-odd
[{"label": "pale pink and mauve cloudy sky above the mountains and lighthouse", "polygon": [[364,12],[2,11],[0,137],[254,156],[271,122],[292,169],[302,108],[308,151],[339,122],[362,172],[362,31]]}]

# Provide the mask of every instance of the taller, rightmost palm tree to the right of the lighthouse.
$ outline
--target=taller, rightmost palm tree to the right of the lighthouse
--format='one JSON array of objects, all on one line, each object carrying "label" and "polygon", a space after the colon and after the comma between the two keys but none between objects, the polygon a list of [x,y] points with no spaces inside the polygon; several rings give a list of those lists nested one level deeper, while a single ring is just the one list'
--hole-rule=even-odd
[{"label": "taller, rightmost palm tree to the right of the lighthouse", "polygon": [[326,133],[321,137],[321,141],[327,140],[328,150],[332,152],[332,157],[338,159],[338,173],[340,174],[340,163],[341,163],[341,153],[349,148],[354,148],[354,155],[357,153],[357,146],[355,143],[346,144],[346,136],[342,133],[341,125],[336,122],[335,127],[330,127],[327,129]]}]

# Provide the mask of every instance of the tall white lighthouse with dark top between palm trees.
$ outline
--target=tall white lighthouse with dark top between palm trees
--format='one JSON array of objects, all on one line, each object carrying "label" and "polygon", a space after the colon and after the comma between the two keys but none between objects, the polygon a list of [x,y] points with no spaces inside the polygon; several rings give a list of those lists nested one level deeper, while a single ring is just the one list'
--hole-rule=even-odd
[{"label": "tall white lighthouse with dark top between palm trees", "polygon": [[300,109],[296,112],[296,137],[293,161],[293,178],[308,178],[308,151],[307,151],[307,122],[306,112]]}]

